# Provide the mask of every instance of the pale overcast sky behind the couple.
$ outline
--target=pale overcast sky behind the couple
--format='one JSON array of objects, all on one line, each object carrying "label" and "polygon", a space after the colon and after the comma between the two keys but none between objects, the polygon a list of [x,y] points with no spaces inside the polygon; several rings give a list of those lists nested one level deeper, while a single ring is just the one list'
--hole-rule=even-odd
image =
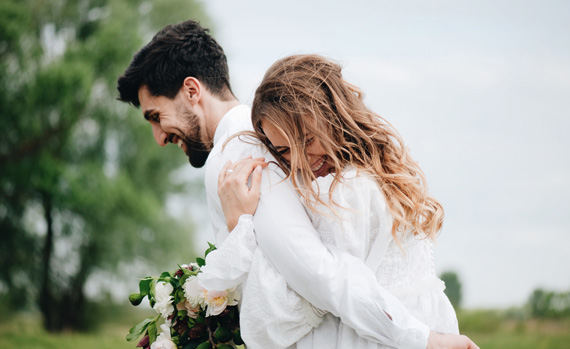
[{"label": "pale overcast sky behind the couple", "polygon": [[436,271],[465,307],[570,290],[570,2],[201,2],[242,103],[274,61],[317,53],[396,127],[444,206]]}]

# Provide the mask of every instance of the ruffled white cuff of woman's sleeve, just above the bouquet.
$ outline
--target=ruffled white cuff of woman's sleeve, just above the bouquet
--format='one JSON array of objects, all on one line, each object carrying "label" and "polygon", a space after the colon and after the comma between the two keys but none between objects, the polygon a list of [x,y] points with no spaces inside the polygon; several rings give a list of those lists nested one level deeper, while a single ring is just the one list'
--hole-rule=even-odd
[{"label": "ruffled white cuff of woman's sleeve, just above the bouquet", "polygon": [[242,215],[223,245],[206,257],[206,265],[198,274],[201,285],[209,290],[226,290],[242,283],[256,248],[253,218]]}]

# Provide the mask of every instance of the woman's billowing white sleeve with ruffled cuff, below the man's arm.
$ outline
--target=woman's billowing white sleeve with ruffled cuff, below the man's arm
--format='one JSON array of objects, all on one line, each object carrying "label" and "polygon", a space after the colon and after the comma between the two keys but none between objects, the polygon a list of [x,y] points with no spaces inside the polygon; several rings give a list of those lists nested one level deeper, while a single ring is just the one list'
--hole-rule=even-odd
[{"label": "woman's billowing white sleeve with ruffled cuff, below the man's arm", "polygon": [[324,315],[291,290],[263,257],[251,215],[241,216],[224,244],[208,254],[198,279],[203,287],[213,290],[246,281],[240,327],[242,338],[252,348],[288,347],[318,326]]}]

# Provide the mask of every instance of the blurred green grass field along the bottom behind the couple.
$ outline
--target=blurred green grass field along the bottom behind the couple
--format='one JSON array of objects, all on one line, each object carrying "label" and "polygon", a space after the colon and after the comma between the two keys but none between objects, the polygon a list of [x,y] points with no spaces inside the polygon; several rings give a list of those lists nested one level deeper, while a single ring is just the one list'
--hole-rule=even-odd
[{"label": "blurred green grass field along the bottom behind the couple", "polygon": [[[130,308],[110,314],[104,324],[90,333],[50,334],[37,315],[19,314],[0,319],[2,349],[134,349],[125,336],[129,328],[152,311]],[[462,333],[485,349],[570,348],[570,319],[513,319],[504,312],[469,310],[458,313]]]}]

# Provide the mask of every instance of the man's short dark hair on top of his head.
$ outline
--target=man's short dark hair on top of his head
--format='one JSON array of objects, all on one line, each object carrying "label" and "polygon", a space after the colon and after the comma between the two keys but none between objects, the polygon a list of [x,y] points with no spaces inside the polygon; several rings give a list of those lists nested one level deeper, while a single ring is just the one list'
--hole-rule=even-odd
[{"label": "man's short dark hair on top of his head", "polygon": [[189,76],[222,100],[233,96],[224,50],[192,20],[167,25],[135,54],[117,82],[119,100],[139,107],[143,85],[154,96],[174,98]]}]

